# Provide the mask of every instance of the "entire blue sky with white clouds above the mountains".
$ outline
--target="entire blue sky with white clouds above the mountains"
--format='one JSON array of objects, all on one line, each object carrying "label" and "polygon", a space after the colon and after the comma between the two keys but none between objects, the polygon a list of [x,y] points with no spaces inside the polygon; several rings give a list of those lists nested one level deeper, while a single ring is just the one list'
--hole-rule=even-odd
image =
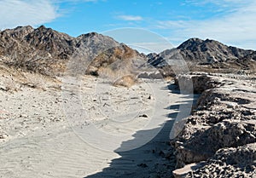
[{"label": "entire blue sky with white clouds above the mountains", "polygon": [[[149,35],[137,45],[157,47],[157,52],[191,37],[256,49],[255,0],[0,0],[0,7],[2,31],[44,25],[73,37],[98,32],[130,43],[138,29]],[[120,35],[124,28],[132,31]],[[147,40],[154,37],[163,40]]]}]

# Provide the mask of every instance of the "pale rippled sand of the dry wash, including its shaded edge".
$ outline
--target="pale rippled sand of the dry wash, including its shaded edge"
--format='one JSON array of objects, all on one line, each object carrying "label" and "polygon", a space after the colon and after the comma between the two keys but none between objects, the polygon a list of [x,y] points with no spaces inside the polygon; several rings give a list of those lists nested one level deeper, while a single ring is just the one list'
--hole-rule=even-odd
[{"label": "pale rippled sand of the dry wash, including its shaded edge", "polygon": [[157,80],[131,88],[92,77],[80,82],[0,90],[0,177],[149,177],[164,171],[157,165],[170,160],[158,153],[169,147],[178,107],[191,96]]}]

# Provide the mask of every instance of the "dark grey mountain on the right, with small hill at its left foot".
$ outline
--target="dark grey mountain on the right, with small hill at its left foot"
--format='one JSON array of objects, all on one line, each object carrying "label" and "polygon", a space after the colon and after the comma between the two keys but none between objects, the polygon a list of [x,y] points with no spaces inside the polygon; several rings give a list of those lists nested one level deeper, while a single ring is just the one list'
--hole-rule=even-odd
[{"label": "dark grey mountain on the right, with small hill at its left foot", "polygon": [[[168,52],[169,51],[169,52]],[[238,49],[214,40],[190,38],[177,47],[179,58],[188,66],[201,70],[203,66],[216,69],[255,70],[255,51]],[[151,55],[148,62],[153,66],[166,66],[163,61],[170,60],[170,49],[159,55]],[[172,58],[172,57],[171,57]],[[173,59],[173,58],[172,58]],[[169,63],[170,64],[170,63]]]}]

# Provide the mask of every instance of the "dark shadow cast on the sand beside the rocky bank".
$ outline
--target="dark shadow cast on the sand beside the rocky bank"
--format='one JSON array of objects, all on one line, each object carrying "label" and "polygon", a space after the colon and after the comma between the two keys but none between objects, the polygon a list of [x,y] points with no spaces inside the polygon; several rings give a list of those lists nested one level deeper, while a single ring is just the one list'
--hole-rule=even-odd
[{"label": "dark shadow cast on the sand beside the rocky bank", "polygon": [[[168,85],[166,89],[170,89],[170,92],[173,94],[179,94],[179,91],[176,90],[173,84]],[[183,96],[181,95],[180,97]],[[186,105],[186,103],[186,100],[184,100],[182,104],[175,104],[166,108],[172,110],[172,113],[168,114],[168,120],[162,125],[162,129],[160,129],[160,132],[153,140],[134,150],[126,152],[115,151],[119,154],[120,158],[113,159],[110,166],[102,169],[102,172],[88,175],[86,178],[172,177],[172,170],[175,168],[176,162],[172,147],[169,144],[169,135],[179,107]],[[142,134],[150,135],[149,133],[154,131],[154,129],[137,131],[133,135],[134,139],[131,141],[136,141]],[[120,147],[131,144],[131,141],[124,141]]]}]

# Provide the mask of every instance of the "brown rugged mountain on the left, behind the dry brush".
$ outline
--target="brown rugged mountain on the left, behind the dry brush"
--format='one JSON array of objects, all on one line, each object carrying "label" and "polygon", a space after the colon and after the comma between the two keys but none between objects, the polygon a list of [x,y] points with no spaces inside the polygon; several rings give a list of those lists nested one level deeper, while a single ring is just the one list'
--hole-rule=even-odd
[{"label": "brown rugged mountain on the left, behind the dry brush", "polygon": [[96,73],[101,66],[137,57],[143,55],[96,32],[70,37],[45,26],[18,26],[0,32],[0,64],[45,75],[60,75],[70,60],[77,66],[94,67]]}]

